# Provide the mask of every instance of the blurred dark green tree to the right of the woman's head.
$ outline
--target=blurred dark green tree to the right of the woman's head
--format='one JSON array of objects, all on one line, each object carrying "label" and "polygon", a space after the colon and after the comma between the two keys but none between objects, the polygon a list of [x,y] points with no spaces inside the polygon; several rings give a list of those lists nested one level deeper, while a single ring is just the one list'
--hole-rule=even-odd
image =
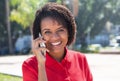
[{"label": "blurred dark green tree to the right of the woman's head", "polygon": [[99,34],[107,21],[114,24],[120,23],[120,1],[119,0],[79,0],[79,13],[77,22],[77,43],[86,48],[86,37]]}]

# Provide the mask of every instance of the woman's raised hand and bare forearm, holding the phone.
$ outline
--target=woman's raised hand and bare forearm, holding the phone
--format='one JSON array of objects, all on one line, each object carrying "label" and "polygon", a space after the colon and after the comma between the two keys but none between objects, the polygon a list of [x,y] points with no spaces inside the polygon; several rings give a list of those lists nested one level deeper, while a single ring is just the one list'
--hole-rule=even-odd
[{"label": "woman's raised hand and bare forearm, holding the phone", "polygon": [[33,40],[32,51],[38,60],[38,81],[47,81],[47,75],[45,70],[45,60],[46,60],[45,51],[48,51],[48,49],[45,47],[40,47],[40,43],[45,43],[45,41],[41,37],[38,37],[35,40]]}]

